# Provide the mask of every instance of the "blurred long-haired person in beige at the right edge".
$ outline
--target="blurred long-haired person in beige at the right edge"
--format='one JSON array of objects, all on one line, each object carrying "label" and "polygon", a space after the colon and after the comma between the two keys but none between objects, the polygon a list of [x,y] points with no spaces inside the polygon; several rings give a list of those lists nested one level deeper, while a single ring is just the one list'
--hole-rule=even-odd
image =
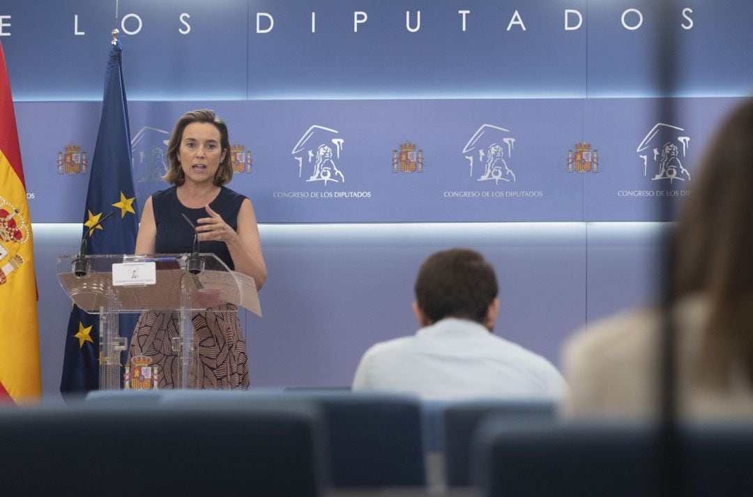
[{"label": "blurred long-haired person in beige at the right edge", "polygon": [[[677,407],[691,418],[753,416],[753,99],[724,121],[669,243]],[[657,415],[660,309],[589,325],[563,350],[573,416]]]}]

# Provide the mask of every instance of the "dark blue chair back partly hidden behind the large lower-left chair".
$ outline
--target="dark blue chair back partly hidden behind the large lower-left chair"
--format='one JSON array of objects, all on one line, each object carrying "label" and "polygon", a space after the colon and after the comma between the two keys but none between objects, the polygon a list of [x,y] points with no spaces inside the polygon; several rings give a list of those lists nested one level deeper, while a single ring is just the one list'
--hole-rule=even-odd
[{"label": "dark blue chair back partly hidden behind the large lower-left chair", "polygon": [[424,486],[421,403],[410,395],[301,389],[284,392],[184,392],[163,405],[265,403],[315,407],[322,416],[328,484],[336,488]]}]

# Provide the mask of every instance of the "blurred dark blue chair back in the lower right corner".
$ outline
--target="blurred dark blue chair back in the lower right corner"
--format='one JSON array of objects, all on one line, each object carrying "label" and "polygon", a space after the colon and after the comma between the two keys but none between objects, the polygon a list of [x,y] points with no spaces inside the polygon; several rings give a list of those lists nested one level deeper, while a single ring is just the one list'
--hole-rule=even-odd
[{"label": "blurred dark blue chair back in the lower right corner", "polygon": [[660,489],[685,497],[753,495],[753,423],[684,423],[676,434],[676,472],[667,473],[653,423],[511,428],[504,419],[487,419],[474,446],[474,481],[488,497],[634,497]]}]

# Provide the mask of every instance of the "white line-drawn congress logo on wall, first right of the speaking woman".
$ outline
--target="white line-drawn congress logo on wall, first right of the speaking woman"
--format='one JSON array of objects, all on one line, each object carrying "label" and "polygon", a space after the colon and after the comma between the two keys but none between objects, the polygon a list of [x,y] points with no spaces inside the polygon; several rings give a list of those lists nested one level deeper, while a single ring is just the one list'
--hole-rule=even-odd
[{"label": "white line-drawn congress logo on wall, first right of the speaking woman", "polygon": [[291,154],[298,166],[298,177],[306,181],[345,183],[345,175],[340,164],[345,139],[332,128],[314,124],[298,139]]}]

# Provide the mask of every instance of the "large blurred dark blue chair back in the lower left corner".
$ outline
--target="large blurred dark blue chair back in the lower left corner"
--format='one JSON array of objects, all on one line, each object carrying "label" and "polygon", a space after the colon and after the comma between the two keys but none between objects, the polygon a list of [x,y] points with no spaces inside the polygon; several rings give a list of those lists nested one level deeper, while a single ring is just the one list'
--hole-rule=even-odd
[{"label": "large blurred dark blue chair back in the lower left corner", "polygon": [[34,408],[0,413],[5,495],[322,493],[316,415],[245,410]]}]

